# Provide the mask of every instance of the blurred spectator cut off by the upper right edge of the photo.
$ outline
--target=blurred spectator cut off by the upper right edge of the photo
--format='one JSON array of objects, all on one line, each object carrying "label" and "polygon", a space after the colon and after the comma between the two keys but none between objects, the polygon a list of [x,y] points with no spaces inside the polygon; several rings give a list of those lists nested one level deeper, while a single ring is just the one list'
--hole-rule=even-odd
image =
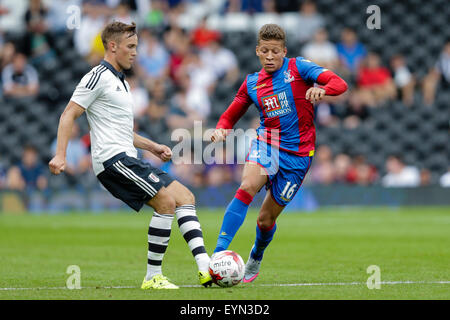
[{"label": "blurred spectator cut off by the upper right edge of the photo", "polygon": [[423,79],[423,100],[426,105],[431,106],[434,103],[439,83],[442,89],[450,89],[450,40],[445,44],[435,66]]}]

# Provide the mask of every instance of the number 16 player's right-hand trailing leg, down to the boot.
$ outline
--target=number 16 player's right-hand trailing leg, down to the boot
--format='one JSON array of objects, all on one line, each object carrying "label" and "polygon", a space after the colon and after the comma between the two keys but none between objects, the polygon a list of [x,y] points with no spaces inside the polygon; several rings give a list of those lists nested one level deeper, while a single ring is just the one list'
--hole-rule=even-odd
[{"label": "number 16 player's right-hand trailing leg, down to the boot", "polygon": [[252,282],[258,277],[264,250],[273,239],[277,229],[276,220],[283,209],[273,199],[272,191],[268,190],[257,219],[255,244],[245,265],[244,283]]}]

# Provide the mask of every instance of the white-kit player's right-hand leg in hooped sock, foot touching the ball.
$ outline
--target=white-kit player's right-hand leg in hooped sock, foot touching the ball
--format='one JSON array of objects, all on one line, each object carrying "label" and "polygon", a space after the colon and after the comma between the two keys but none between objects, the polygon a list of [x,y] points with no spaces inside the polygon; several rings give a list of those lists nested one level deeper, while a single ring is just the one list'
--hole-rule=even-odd
[{"label": "white-kit player's right-hand leg in hooped sock, foot touching the ball", "polygon": [[209,275],[209,256],[206,253],[203,233],[195,209],[195,197],[192,192],[178,181],[173,181],[166,187],[175,199],[175,214],[180,232],[189,246],[198,266],[198,278],[201,285],[212,284]]}]

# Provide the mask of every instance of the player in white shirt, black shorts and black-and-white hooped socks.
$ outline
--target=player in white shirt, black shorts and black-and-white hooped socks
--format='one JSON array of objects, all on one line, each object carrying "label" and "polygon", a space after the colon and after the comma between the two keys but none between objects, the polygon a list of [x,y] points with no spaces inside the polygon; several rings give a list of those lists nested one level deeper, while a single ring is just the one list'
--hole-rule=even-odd
[{"label": "player in white shirt, black shorts and black-and-white hooped socks", "polygon": [[90,126],[92,166],[102,185],[116,198],[139,211],[144,204],[155,209],[148,229],[147,274],[142,289],[178,289],[162,274],[161,264],[170,239],[174,214],[198,265],[199,282],[210,286],[209,256],[195,210],[194,195],[166,172],[137,159],[136,148],[170,160],[169,147],[133,131],[133,99],[123,70],[136,58],[136,25],[108,24],[101,35],[105,57],[76,87],[61,115],[56,154],[50,171],[60,174],[74,121],[86,112]]}]

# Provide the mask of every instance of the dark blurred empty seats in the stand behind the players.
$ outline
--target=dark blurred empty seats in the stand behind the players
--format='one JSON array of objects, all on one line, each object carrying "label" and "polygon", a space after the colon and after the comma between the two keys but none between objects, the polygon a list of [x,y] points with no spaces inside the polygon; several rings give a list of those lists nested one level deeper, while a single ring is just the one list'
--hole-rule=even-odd
[{"label": "dark blurred empty seats in the stand behind the players", "polygon": [[[448,28],[450,6],[445,0],[433,0],[425,4],[419,0],[377,1],[382,12],[381,30],[366,28],[365,21],[368,15],[365,11],[367,4],[364,2],[359,0],[340,2],[339,6],[333,6],[333,10],[329,10],[334,4],[332,0],[317,0],[315,3],[317,12],[323,16],[331,42],[339,43],[342,29],[352,28],[368,52],[380,55],[384,66],[389,66],[393,55],[401,54],[419,82],[434,67],[446,41],[450,39]],[[215,126],[222,112],[232,101],[244,76],[260,69],[254,53],[255,31],[258,26],[268,22],[269,18],[275,19],[285,26],[288,32],[288,55],[300,54],[302,44],[294,39],[295,28],[298,27],[295,24],[296,14],[297,12],[248,15],[243,12],[222,11],[209,14],[208,26],[220,31],[223,46],[236,55],[241,72],[238,81],[233,85],[221,85],[219,80],[212,89],[209,95],[212,108],[208,118],[209,127]],[[202,18],[197,16],[193,19]],[[195,27],[194,20],[186,22],[186,26]],[[180,21],[186,21],[185,17],[181,16]],[[158,33],[161,41],[164,35],[164,31]],[[11,41],[17,47],[20,46],[21,39],[21,33],[11,30],[3,34],[3,43]],[[75,50],[72,31],[55,32],[54,39],[52,49],[56,52],[57,58],[35,65],[39,74],[38,95],[31,99],[9,99],[0,95],[0,154],[2,164],[6,168],[20,160],[22,154],[20,146],[25,144],[32,144],[37,148],[43,163],[49,161],[50,145],[55,139],[59,116],[80,77],[91,68],[87,59],[81,57]],[[168,50],[170,51],[170,48]],[[337,72],[339,73],[338,70]],[[349,80],[350,87],[355,88],[354,79]],[[165,81],[172,80],[166,78]],[[424,105],[420,86],[417,85],[411,106],[405,106],[401,99],[397,98],[380,106],[368,108],[368,118],[354,128],[345,128],[342,122],[337,126],[319,126],[317,143],[319,146],[329,145],[334,155],[340,153],[351,157],[364,155],[376,168],[380,177],[386,173],[387,157],[394,153],[401,154],[408,165],[430,170],[431,182],[437,184],[439,178],[448,170],[450,152],[448,143],[450,90],[448,84],[445,87],[442,83],[439,84],[436,99],[431,106]],[[176,85],[173,82],[167,83],[167,88],[166,90],[170,90],[168,91],[170,100]],[[336,107],[337,117],[342,119],[348,108],[348,100],[333,104]],[[248,128],[256,116],[256,110],[251,108],[238,126]],[[164,121],[154,122],[142,117],[137,119],[137,122],[140,130],[148,136],[173,145]],[[84,117],[79,124],[81,132],[87,133],[89,128]],[[50,179],[50,187],[63,186],[63,180]],[[96,183],[94,179],[89,181]]]}]

